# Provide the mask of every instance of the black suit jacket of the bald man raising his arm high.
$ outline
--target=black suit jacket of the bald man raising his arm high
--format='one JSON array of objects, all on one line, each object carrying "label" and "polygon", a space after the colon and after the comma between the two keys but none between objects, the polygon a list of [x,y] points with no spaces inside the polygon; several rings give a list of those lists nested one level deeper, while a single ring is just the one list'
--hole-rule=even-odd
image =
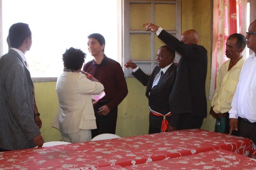
[{"label": "black suit jacket of the bald man raising his arm high", "polygon": [[170,95],[171,112],[173,115],[191,112],[206,117],[207,50],[198,44],[187,45],[165,30],[158,38],[181,54],[176,82]]}]

